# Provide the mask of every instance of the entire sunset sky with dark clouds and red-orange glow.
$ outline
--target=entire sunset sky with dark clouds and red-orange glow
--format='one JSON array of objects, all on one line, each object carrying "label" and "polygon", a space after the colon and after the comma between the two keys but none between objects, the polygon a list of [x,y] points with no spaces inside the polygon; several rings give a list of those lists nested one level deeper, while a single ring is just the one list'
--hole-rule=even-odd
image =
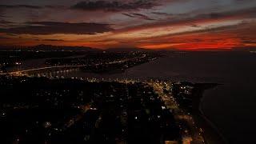
[{"label": "entire sunset sky with dark clouds and red-orange glow", "polygon": [[0,45],[256,47],[254,0],[1,0]]}]

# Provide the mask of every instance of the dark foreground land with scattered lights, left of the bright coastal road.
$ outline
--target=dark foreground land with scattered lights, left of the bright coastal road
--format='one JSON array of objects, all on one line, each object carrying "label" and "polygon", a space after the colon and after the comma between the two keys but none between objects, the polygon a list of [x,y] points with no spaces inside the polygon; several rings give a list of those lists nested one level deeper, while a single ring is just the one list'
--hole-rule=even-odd
[{"label": "dark foreground land with scattered lights, left of the bright coastal road", "polygon": [[181,141],[153,87],[1,76],[0,143],[163,143]]}]

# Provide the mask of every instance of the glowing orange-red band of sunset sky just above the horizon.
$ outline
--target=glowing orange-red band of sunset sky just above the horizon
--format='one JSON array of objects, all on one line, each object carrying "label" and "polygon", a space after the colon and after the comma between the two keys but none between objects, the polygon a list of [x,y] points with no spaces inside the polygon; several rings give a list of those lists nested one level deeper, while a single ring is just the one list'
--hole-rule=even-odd
[{"label": "glowing orange-red band of sunset sky just above the horizon", "polygon": [[[234,22],[231,21],[231,23]],[[250,25],[253,24],[255,22]],[[184,26],[177,26],[176,28],[172,28],[170,32],[166,31],[166,27],[160,26],[150,29],[127,30],[122,33],[96,35],[42,35],[42,40],[33,39],[33,35],[22,35],[23,38],[6,38],[1,44],[7,46],[35,46],[40,44],[54,46],[90,46],[99,49],[139,47],[153,50],[231,50],[235,47],[256,47],[256,43],[254,42],[254,32],[256,29],[250,25],[239,24],[223,30],[221,27],[221,29],[214,31],[193,30],[193,28],[187,26],[186,28]],[[248,27],[250,27],[250,30],[248,30]],[[152,34],[142,34],[145,30]],[[47,40],[50,38],[63,38],[63,40]]]}]

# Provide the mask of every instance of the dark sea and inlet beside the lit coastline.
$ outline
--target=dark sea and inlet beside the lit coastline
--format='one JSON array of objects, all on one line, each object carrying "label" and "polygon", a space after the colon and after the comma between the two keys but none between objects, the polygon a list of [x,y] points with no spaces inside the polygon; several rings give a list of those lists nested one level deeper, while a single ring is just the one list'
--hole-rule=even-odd
[{"label": "dark sea and inlet beside the lit coastline", "polygon": [[256,143],[256,54],[189,52],[167,54],[122,74],[85,74],[94,78],[170,78],[174,81],[218,82],[202,98],[202,111],[229,143]]}]

